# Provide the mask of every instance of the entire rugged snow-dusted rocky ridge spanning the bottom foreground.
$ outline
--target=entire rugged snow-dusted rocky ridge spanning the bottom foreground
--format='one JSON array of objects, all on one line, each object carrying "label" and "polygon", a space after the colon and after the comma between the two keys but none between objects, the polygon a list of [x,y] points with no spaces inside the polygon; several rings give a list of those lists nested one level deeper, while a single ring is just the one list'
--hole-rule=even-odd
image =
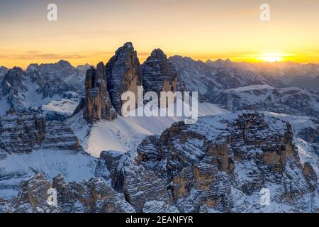
[{"label": "entire rugged snow-dusted rocky ridge spanning the bottom foreground", "polygon": [[[318,134],[304,133],[314,142]],[[291,125],[272,115],[244,111],[174,123],[130,155],[106,151],[91,177],[66,182],[44,175],[21,183],[2,212],[316,212],[318,177],[301,162]],[[91,178],[91,179],[90,179]],[[0,185],[1,186],[1,185]],[[46,203],[57,189],[57,206]],[[269,189],[270,206],[259,192]]]}]

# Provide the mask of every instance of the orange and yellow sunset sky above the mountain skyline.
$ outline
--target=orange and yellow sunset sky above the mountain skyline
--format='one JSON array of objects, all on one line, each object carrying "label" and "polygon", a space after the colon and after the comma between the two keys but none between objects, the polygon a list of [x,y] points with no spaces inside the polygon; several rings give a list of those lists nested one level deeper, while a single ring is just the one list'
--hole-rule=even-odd
[{"label": "orange and yellow sunset sky above the mountain skyline", "polygon": [[[50,3],[57,22],[47,21]],[[126,41],[141,62],[162,48],[196,60],[319,63],[318,12],[318,0],[1,0],[0,65],[107,62]]]}]

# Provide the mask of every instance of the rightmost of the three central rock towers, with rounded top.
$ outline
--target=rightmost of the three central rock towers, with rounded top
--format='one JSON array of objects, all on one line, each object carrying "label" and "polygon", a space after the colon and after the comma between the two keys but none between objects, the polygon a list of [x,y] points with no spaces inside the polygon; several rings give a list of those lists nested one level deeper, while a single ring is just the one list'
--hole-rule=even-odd
[{"label": "rightmost of the three central rock towers, with rounded top", "polygon": [[167,56],[160,49],[152,51],[142,65],[145,92],[176,92],[177,72]]}]

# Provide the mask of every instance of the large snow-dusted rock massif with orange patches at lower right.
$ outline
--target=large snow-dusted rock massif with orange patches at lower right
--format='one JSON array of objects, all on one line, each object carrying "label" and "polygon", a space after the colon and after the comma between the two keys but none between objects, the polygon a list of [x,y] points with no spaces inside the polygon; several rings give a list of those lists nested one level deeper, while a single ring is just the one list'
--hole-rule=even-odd
[{"label": "large snow-dusted rock massif with orange patches at lower right", "polygon": [[262,189],[269,189],[272,211],[282,211],[278,204],[318,209],[307,205],[318,196],[318,179],[301,165],[290,124],[258,112],[174,123],[141,143],[137,162],[169,184],[181,212],[267,211]]}]

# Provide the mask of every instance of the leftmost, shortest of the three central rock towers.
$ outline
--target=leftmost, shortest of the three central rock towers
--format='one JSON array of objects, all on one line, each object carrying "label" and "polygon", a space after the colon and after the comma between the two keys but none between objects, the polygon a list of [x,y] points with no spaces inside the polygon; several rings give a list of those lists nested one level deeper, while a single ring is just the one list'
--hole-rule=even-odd
[{"label": "leftmost, shortest of the three central rock towers", "polygon": [[84,118],[88,121],[106,119],[113,121],[116,111],[111,104],[107,91],[106,72],[103,62],[96,69],[91,67],[86,71]]}]

